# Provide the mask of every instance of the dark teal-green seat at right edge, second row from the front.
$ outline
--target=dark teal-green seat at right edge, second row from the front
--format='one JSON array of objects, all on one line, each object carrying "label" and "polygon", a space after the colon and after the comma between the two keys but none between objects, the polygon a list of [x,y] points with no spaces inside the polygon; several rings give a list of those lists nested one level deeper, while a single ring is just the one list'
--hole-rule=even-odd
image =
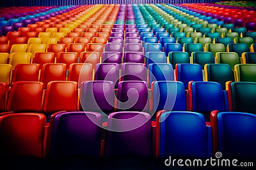
[{"label": "dark teal-green seat at right edge, second row from the front", "polygon": [[232,97],[232,110],[246,113],[256,113],[256,83],[255,82],[232,82],[230,83]]}]

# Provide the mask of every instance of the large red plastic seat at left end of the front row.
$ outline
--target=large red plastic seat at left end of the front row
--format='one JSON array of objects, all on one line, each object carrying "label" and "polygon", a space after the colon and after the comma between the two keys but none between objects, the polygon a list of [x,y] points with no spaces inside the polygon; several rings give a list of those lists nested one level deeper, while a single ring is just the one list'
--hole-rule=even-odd
[{"label": "large red plastic seat at left end of the front row", "polygon": [[1,116],[1,157],[43,158],[45,125],[45,115],[40,113],[12,113]]}]

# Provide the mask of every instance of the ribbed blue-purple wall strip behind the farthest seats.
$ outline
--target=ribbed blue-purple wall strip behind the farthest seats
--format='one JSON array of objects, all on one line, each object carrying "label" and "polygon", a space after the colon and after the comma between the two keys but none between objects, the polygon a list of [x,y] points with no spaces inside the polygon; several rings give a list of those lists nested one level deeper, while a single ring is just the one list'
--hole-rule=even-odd
[{"label": "ribbed blue-purple wall strip behind the farthest seats", "polygon": [[77,4],[214,3],[220,0],[0,0],[0,6],[64,6]]}]

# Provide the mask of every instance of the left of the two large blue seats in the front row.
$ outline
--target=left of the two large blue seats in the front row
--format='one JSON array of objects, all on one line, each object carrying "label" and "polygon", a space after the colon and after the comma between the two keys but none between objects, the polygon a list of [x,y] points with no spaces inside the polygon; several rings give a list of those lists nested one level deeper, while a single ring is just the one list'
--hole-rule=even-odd
[{"label": "left of the two large blue seats in the front row", "polygon": [[211,127],[202,114],[162,111],[157,115],[157,156],[206,159],[212,155]]}]

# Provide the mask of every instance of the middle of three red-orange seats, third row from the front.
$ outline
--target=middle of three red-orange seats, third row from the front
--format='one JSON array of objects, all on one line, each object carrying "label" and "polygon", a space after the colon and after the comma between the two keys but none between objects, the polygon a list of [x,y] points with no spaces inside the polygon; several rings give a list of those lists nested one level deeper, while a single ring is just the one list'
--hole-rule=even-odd
[{"label": "middle of three red-orange seats, third row from the front", "polygon": [[44,89],[50,81],[65,81],[66,80],[66,64],[62,63],[47,63],[44,64],[40,73],[40,82],[44,83]]}]

